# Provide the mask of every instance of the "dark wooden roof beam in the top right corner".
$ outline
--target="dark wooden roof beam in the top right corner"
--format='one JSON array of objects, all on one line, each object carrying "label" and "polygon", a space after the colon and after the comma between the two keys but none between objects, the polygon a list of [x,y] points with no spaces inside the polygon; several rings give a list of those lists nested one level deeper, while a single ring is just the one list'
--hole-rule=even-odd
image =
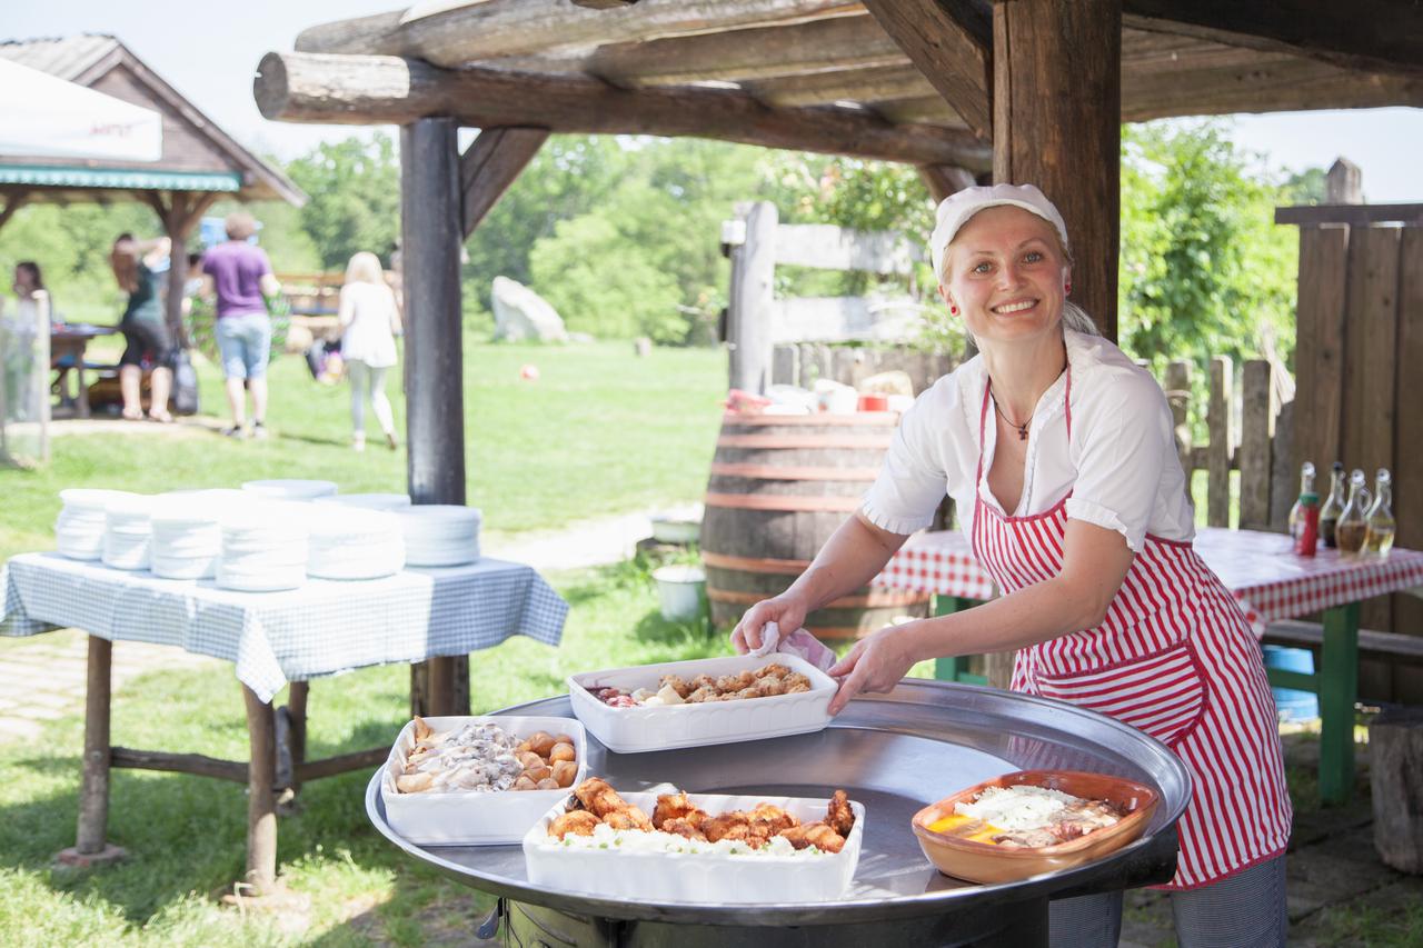
[{"label": "dark wooden roof beam in the top right corner", "polygon": [[1123,0],[1121,24],[1227,46],[1292,53],[1366,73],[1423,75],[1416,0]]}]

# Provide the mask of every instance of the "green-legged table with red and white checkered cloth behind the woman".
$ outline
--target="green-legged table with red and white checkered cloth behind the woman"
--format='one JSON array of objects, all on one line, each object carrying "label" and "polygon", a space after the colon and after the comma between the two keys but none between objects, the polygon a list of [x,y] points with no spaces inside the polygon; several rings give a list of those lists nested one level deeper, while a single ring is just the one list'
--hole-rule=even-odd
[{"label": "green-legged table with red and white checkered cloth behind the woman", "polygon": [[[1278,619],[1323,612],[1325,642],[1319,680],[1339,686],[1321,692],[1321,796],[1348,799],[1353,784],[1353,703],[1358,686],[1359,602],[1423,586],[1423,552],[1393,549],[1387,558],[1345,558],[1322,545],[1298,557],[1284,534],[1205,527],[1195,534],[1201,555],[1229,589],[1245,619],[1264,635]],[[992,599],[993,579],[959,531],[916,534],[889,559],[874,585],[933,592],[955,599]],[[949,676],[959,675],[956,665]],[[1279,672],[1271,672],[1281,676]],[[1281,678],[1281,683],[1284,683]]]}]

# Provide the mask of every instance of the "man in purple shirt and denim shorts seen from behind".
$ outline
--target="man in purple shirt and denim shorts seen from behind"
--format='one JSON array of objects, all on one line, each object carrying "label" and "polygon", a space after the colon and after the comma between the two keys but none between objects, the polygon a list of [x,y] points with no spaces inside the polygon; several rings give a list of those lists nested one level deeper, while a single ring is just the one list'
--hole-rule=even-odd
[{"label": "man in purple shirt and denim shorts seen from behind", "polygon": [[266,437],[266,364],[272,352],[272,317],[266,300],[276,296],[282,285],[272,275],[266,252],[248,238],[256,233],[258,222],[250,214],[238,211],[223,222],[228,242],[202,255],[203,289],[218,296],[218,325],[213,335],[222,352],[222,372],[228,379],[228,407],[232,427],[223,430],[231,437],[246,436],[246,397],[252,391],[252,437]]}]

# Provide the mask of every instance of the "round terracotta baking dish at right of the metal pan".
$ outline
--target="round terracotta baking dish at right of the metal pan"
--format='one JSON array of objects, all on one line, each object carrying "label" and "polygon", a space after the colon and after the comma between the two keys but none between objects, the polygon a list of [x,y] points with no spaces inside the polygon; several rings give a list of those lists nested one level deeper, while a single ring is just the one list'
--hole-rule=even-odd
[{"label": "round terracotta baking dish at right of the metal pan", "polygon": [[[1109,800],[1126,810],[1127,816],[1114,826],[1096,830],[1069,843],[1030,848],[976,843],[952,833],[936,833],[929,828],[931,823],[952,816],[955,804],[972,800],[988,787],[1016,787],[1020,784],[1060,790],[1089,800]],[[1083,865],[1121,848],[1141,836],[1160,800],[1160,794],[1151,787],[1123,777],[1077,770],[1020,770],[985,780],[955,793],[952,797],[931,803],[914,814],[914,836],[919,840],[919,848],[924,850],[928,860],[945,875],[970,883],[1013,883],[1039,873]]]}]

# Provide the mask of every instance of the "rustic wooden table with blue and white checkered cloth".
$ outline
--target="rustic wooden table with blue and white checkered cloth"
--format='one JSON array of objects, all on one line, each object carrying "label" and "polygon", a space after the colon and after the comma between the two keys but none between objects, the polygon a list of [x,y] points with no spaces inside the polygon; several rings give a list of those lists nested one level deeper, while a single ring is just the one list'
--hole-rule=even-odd
[{"label": "rustic wooden table with blue and white checkered cloth", "polygon": [[[272,885],[276,873],[273,791],[295,793],[303,779],[373,767],[388,752],[306,762],[309,679],[467,655],[514,635],[558,645],[566,615],[568,605],[532,568],[501,559],[360,582],[309,579],[283,592],[159,579],[53,552],[23,554],[0,567],[0,635],[57,628],[90,635],[78,841],[60,858],[87,865],[122,855],[105,841],[111,766],[199,773],[249,784],[246,881],[258,888]],[[111,747],[112,642],[172,645],[232,662],[248,710],[250,760]],[[272,699],[287,683],[289,703],[276,712]]]}]

